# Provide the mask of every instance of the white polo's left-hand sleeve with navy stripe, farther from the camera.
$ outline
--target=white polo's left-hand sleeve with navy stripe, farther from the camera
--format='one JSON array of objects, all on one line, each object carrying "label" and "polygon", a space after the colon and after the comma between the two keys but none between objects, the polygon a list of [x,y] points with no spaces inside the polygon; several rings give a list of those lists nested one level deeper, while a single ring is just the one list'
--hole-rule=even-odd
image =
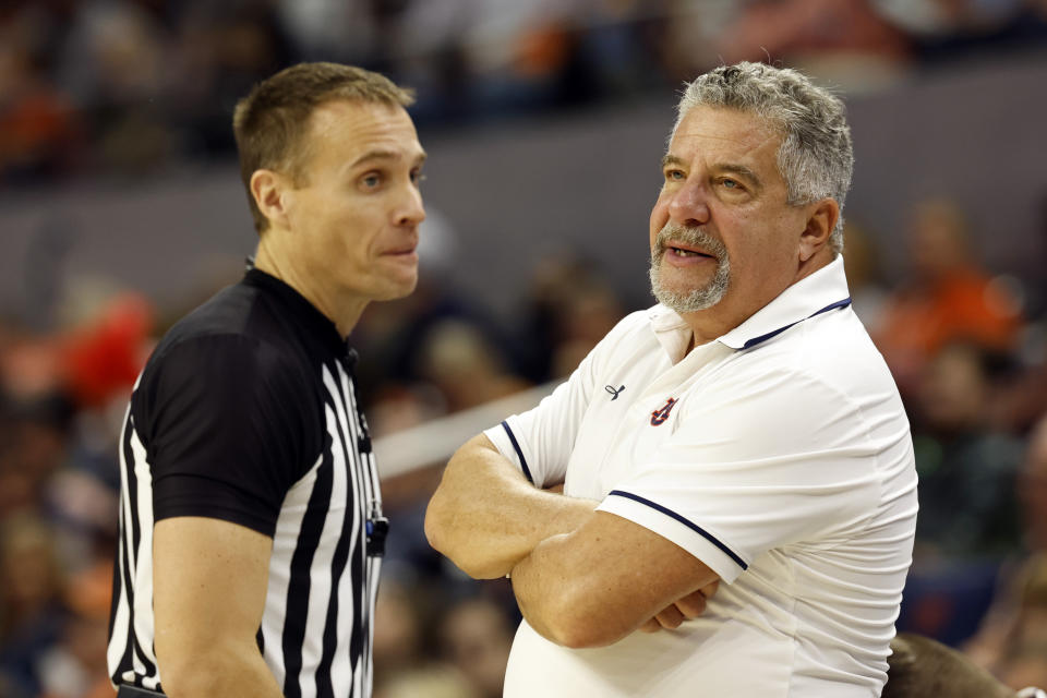
[{"label": "white polo's left-hand sleeve with navy stripe, farther from the camera", "polygon": [[[538,407],[509,417],[484,434],[502,455],[513,461],[534,486],[550,488],[564,482],[567,462],[575,447],[581,421],[592,400],[598,376],[607,356],[641,317],[623,320],[598,344],[570,377]],[[602,392],[602,387],[600,388]]]}]

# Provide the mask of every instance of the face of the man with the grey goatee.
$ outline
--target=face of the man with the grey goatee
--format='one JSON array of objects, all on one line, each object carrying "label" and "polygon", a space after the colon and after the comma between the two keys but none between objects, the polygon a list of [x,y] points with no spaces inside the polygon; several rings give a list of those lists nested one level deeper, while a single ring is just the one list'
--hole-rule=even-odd
[{"label": "face of the man with the grey goatee", "polygon": [[834,203],[786,203],[780,145],[779,133],[759,117],[694,107],[663,158],[650,221],[651,282],[696,334],[703,328],[701,341],[774,299],[816,253],[822,263],[831,258],[825,242],[835,218],[825,214]]}]

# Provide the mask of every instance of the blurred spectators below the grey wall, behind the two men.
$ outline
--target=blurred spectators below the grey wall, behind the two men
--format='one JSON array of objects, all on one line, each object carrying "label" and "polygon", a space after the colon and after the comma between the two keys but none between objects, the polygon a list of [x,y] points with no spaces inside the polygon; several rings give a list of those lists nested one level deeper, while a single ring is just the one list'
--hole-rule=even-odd
[{"label": "blurred spectators below the grey wall, behind the two men", "polygon": [[[1047,224],[1047,221],[1045,221]],[[1047,227],[1047,226],[1045,226]],[[979,262],[954,202],[908,215],[906,276],[849,225],[855,309],[901,388],[920,478],[899,628],[962,648],[1010,685],[1047,685],[1047,312]],[[506,326],[438,275],[372,305],[352,344],[376,437],[564,377],[633,308],[601,269],[550,258]],[[0,326],[0,696],[111,695],[116,444],[137,371],[169,321],[134,293],[63,329]],[[393,521],[375,626],[380,698],[501,695],[519,616],[422,530],[442,464],[384,481]]]}]

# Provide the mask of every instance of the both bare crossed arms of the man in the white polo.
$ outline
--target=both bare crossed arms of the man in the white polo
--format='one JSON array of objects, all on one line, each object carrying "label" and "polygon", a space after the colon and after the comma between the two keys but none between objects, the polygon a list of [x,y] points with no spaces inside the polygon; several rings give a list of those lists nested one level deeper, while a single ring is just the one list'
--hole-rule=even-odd
[{"label": "both bare crossed arms of the man in the white polo", "polygon": [[567,647],[611,645],[701,613],[717,574],[597,504],[535,489],[480,435],[447,464],[425,534],[472,577],[512,574],[524,617]]}]

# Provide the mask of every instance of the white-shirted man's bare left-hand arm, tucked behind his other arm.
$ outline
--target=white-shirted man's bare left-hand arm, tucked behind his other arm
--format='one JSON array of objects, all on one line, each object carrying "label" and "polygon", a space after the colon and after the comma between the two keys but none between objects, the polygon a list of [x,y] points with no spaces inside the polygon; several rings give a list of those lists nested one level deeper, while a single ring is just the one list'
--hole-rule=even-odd
[{"label": "white-shirted man's bare left-hand arm, tucked behind his other arm", "polygon": [[544,539],[573,531],[597,502],[534,488],[480,435],[458,449],[425,512],[425,537],[470,577],[504,577]]}]

